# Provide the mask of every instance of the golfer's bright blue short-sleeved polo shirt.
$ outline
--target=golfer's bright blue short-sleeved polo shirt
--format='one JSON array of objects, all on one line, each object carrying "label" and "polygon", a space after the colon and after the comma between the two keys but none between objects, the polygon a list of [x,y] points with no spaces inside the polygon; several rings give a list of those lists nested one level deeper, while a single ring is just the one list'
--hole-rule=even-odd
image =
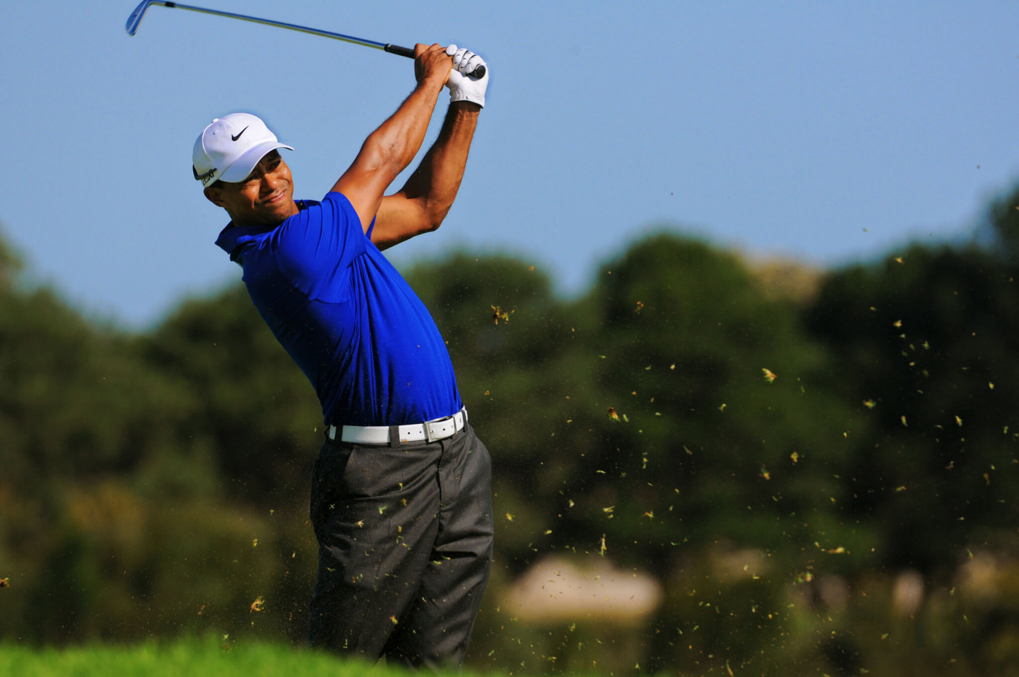
[{"label": "golfer's bright blue short-sleeved polo shirt", "polygon": [[410,284],[329,193],[272,228],[227,225],[255,307],[311,380],[325,423],[401,425],[462,407],[442,336]]}]

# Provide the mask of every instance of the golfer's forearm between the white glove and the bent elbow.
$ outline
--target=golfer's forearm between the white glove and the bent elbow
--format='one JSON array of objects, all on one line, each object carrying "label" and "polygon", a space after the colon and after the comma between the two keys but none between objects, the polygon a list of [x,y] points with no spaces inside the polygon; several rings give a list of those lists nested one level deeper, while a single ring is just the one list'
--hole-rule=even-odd
[{"label": "golfer's forearm between the white glove and the bent elbow", "polygon": [[438,139],[400,190],[422,202],[433,227],[445,218],[464,178],[467,156],[481,107],[466,101],[449,104]]}]

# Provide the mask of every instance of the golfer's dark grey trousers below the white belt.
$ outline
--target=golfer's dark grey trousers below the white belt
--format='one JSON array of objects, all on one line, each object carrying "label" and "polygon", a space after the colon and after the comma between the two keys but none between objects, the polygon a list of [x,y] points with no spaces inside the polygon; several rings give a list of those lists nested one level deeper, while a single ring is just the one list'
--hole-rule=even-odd
[{"label": "golfer's dark grey trousers below the white belt", "polygon": [[491,460],[474,429],[430,444],[326,439],[311,493],[311,644],[461,665],[492,555]]}]

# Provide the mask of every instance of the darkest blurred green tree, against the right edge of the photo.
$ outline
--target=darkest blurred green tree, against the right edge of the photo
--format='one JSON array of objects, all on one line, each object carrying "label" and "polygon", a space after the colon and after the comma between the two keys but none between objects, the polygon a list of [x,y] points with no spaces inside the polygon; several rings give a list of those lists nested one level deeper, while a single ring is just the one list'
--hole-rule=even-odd
[{"label": "darkest blurred green tree, against the right edge of the photo", "polygon": [[846,376],[832,392],[873,408],[847,507],[880,525],[884,566],[945,572],[1014,529],[1017,318],[1011,269],[972,247],[840,271],[806,313]]}]

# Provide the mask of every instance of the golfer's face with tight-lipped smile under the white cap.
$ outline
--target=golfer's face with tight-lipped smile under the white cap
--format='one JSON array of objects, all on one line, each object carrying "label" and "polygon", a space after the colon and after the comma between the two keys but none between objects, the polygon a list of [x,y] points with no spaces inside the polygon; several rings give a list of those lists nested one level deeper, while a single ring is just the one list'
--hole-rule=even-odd
[{"label": "golfer's face with tight-lipped smile under the white cap", "polygon": [[298,213],[293,177],[279,151],[262,158],[245,180],[219,181],[205,189],[205,197],[225,209],[238,226],[278,225]]}]

